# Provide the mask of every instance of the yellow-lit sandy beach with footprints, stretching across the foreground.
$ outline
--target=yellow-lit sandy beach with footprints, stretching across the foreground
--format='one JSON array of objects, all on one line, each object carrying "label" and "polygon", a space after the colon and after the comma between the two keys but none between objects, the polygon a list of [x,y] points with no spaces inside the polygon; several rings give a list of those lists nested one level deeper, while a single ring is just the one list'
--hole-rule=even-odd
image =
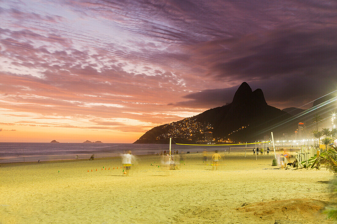
[{"label": "yellow-lit sandy beach with footprints, stretching across the foreground", "polygon": [[0,223],[333,223],[320,213],[331,199],[324,167],[225,154],[211,171],[201,154],[184,156],[176,171],[138,156],[128,177],[118,157],[0,164]]}]

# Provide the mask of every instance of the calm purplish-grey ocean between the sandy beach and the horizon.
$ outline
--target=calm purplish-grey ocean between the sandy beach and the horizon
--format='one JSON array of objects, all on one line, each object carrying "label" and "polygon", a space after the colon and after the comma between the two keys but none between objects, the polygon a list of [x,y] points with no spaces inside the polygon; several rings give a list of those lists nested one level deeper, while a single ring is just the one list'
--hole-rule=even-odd
[{"label": "calm purplish-grey ocean between the sandy beach and the horizon", "polygon": [[[262,145],[257,145],[261,147]],[[244,145],[240,148],[231,148],[233,151],[244,152]],[[249,147],[249,146],[248,146]],[[251,146],[250,146],[251,147]],[[228,152],[229,146],[183,146],[172,144],[172,151],[202,152],[218,150]],[[122,144],[122,143],[25,143],[0,142],[0,163],[4,162],[31,162],[63,159],[89,159],[92,154],[95,158],[120,156],[125,150],[131,150],[134,155],[156,154],[169,150],[169,145],[163,144]],[[247,149],[247,152],[251,149]]]}]

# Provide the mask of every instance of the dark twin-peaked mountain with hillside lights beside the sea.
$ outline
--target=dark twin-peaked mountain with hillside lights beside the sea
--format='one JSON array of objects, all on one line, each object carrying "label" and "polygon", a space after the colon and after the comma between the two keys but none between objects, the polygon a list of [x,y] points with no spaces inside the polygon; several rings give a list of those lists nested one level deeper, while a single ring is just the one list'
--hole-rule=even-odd
[{"label": "dark twin-peaked mountain with hillside lights beside the sea", "polygon": [[216,140],[250,142],[263,139],[264,135],[270,136],[271,131],[275,134],[292,132],[294,128],[296,129],[296,123],[272,127],[290,117],[287,112],[269,106],[261,89],[252,91],[250,86],[243,82],[236,91],[232,103],[177,122],[154,127],[134,143],[167,144],[169,138],[179,143],[191,143],[203,140],[205,132],[212,132]]}]

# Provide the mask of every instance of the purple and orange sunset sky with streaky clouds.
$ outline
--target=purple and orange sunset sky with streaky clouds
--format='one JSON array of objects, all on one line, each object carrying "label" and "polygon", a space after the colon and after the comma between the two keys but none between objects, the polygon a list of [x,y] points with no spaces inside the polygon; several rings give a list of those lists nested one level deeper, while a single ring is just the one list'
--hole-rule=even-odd
[{"label": "purple and orange sunset sky with streaky clouds", "polygon": [[132,143],[242,82],[279,109],[337,89],[336,1],[0,0],[0,20],[0,142]]}]

